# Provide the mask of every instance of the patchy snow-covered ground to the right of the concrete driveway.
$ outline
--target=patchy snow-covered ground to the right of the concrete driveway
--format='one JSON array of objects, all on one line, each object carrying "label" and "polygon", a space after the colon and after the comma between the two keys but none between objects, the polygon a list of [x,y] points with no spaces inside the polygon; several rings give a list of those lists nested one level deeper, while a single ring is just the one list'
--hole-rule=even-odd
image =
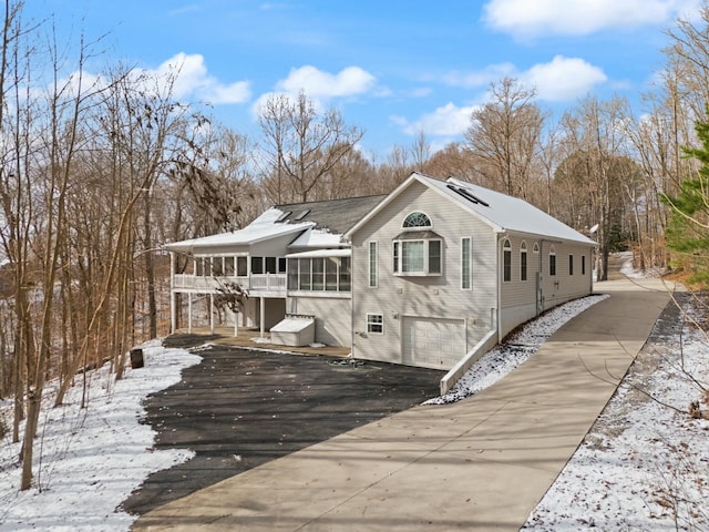
[{"label": "patchy snow-covered ground to the right of the concrete driveway", "polygon": [[522,530],[709,530],[708,344],[687,321],[640,352]]}]

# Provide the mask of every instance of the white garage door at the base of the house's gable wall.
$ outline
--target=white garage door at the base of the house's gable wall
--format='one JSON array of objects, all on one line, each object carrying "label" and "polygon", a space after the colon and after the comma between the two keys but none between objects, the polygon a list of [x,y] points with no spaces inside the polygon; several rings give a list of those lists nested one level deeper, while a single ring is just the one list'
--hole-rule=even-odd
[{"label": "white garage door at the base of the house's gable wall", "polygon": [[402,340],[403,364],[451,369],[465,354],[465,321],[404,317]]}]

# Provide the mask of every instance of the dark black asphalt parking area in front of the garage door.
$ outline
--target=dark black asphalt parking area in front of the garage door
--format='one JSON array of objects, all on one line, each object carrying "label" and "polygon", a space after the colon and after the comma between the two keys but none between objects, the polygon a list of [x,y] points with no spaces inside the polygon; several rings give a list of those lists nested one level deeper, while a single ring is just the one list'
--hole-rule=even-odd
[{"label": "dark black asphalt parking area in front of the garage door", "polygon": [[[179,335],[169,347],[205,337]],[[419,405],[443,372],[382,362],[212,346],[182,381],[150,396],[156,449],[191,449],[184,464],[152,474],[123,504],[143,514],[276,458]],[[150,371],[150,368],[146,368]]]}]

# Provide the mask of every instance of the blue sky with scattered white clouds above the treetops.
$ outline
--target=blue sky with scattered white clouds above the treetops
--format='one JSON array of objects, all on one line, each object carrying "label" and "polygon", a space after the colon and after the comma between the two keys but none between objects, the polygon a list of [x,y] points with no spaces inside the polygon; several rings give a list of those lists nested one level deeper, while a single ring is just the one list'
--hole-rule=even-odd
[{"label": "blue sky with scattered white clouds above the treetops", "polygon": [[259,101],[305,90],[366,130],[361,147],[381,161],[419,131],[433,147],[461,140],[504,75],[535,86],[538,103],[557,112],[588,94],[639,102],[664,64],[665,31],[700,0],[27,3],[25,17],[54,16],[60,42],[105,35],[105,54],[88,70],[181,62],[177,95],[210,102],[217,120],[255,139]]}]

